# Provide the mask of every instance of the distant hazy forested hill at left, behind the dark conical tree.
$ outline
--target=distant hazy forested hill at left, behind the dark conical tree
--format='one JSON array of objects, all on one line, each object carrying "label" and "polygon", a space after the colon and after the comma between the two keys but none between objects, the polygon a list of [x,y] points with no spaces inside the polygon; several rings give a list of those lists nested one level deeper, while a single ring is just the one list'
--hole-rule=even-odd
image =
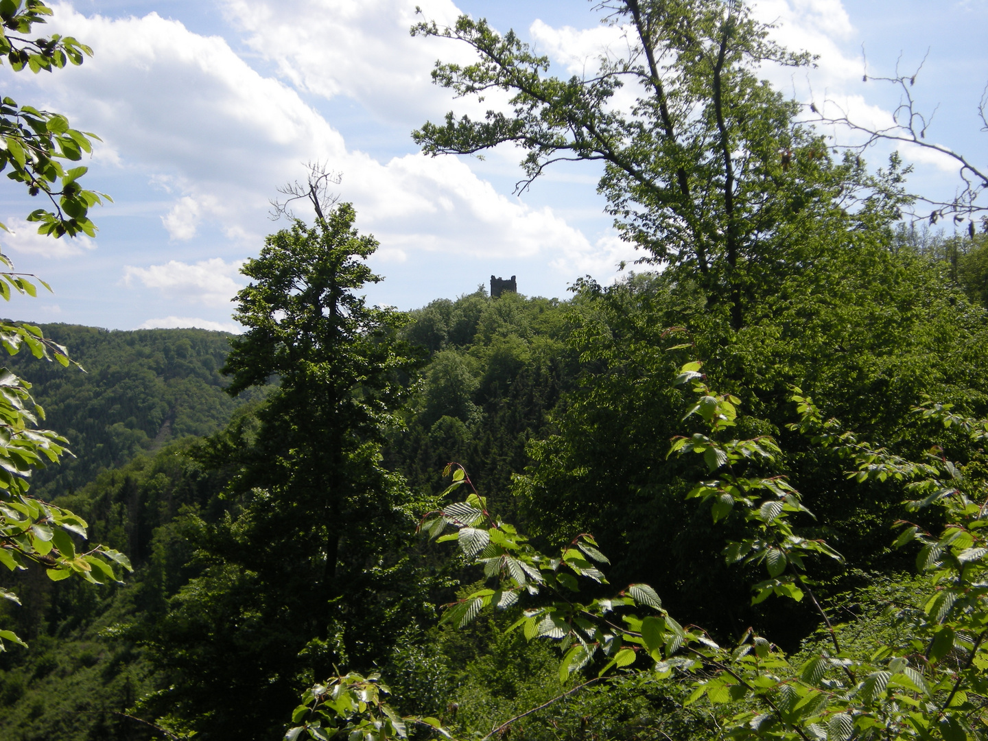
[{"label": "distant hazy forested hill at left, behind the dark conical tree", "polygon": [[62,368],[30,353],[3,363],[34,384],[44,426],[69,441],[74,458],[38,471],[33,491],[57,497],[187,435],[208,435],[226,424],[251,394],[231,398],[220,374],[229,335],[205,329],[108,331],[73,324],[41,329],[85,370]]}]

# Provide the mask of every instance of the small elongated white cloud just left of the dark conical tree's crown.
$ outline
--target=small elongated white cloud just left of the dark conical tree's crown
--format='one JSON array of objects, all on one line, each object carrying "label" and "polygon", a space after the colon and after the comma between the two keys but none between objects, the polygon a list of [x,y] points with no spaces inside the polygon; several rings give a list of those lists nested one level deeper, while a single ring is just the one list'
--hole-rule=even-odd
[{"label": "small elongated white cloud just left of the dark conical tree's crown", "polygon": [[123,283],[130,287],[139,281],[145,288],[155,288],[170,297],[220,308],[228,306],[230,299],[243,288],[239,280],[243,263],[242,260],[226,263],[215,257],[195,265],[177,260],[147,268],[128,265],[124,268]]}]

